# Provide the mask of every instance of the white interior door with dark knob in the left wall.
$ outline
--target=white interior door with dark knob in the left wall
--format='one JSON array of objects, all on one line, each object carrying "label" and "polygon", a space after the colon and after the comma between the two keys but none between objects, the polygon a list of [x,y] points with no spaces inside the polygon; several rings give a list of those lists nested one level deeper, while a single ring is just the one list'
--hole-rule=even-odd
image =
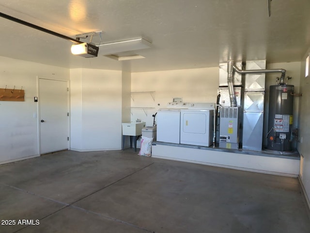
[{"label": "white interior door with dark knob in the left wall", "polygon": [[41,154],[68,149],[67,81],[39,79]]}]

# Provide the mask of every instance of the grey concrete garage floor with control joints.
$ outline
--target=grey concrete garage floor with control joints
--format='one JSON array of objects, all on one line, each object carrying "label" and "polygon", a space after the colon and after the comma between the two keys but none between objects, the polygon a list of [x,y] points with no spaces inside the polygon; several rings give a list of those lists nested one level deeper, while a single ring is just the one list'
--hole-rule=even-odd
[{"label": "grey concrete garage floor with control joints", "polygon": [[1,233],[310,232],[296,178],[132,149],[60,151],[0,166],[0,219],[15,220]]}]

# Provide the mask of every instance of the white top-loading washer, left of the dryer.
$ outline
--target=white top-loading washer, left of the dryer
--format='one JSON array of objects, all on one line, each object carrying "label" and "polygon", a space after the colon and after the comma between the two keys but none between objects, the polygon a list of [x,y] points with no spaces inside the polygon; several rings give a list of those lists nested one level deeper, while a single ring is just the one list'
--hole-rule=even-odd
[{"label": "white top-loading washer, left of the dryer", "polygon": [[157,112],[156,141],[180,144],[181,109],[187,108],[188,103],[169,102],[167,107]]}]

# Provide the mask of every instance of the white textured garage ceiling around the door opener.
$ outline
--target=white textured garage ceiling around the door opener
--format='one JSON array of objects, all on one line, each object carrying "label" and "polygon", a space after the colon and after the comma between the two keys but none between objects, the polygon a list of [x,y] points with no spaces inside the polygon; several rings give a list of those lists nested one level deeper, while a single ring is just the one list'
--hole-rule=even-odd
[{"label": "white textured garage ceiling around the door opener", "polygon": [[83,58],[71,54],[71,41],[0,18],[0,56],[59,67],[142,72],[231,59],[293,62],[310,47],[310,0],[272,0],[271,17],[267,0],[0,0],[0,12],[73,38],[103,31],[102,43],[152,43],[135,51],[144,59]]}]

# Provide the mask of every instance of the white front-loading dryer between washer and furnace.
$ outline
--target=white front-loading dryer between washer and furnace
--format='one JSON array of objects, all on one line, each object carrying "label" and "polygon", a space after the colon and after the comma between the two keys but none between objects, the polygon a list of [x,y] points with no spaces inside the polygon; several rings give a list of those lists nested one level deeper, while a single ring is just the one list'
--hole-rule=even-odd
[{"label": "white front-loading dryer between washer and furnace", "polygon": [[215,103],[190,103],[181,110],[180,143],[209,147],[213,144]]}]

